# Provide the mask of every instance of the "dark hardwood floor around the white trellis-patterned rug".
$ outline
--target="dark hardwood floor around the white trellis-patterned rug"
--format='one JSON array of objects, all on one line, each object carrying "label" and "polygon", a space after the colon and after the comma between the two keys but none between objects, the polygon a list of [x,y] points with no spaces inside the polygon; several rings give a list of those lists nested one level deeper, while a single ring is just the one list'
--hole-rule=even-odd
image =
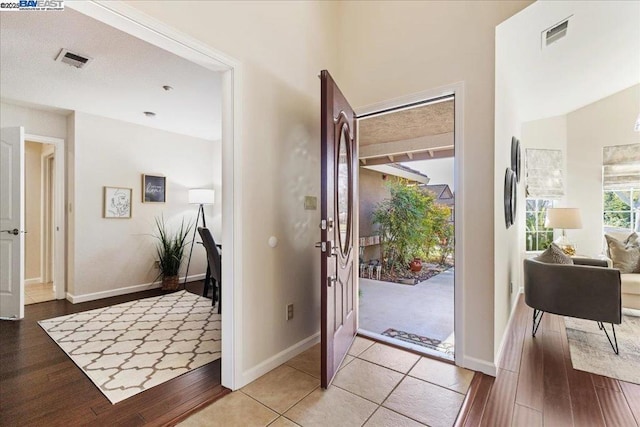
[{"label": "dark hardwood floor around the white trellis-patterned rug", "polygon": [[[187,285],[202,294],[202,282]],[[0,321],[0,426],[173,425],[229,392],[220,359],[112,405],[37,321],[162,295],[156,289],[71,304],[25,307],[20,321]]]}]

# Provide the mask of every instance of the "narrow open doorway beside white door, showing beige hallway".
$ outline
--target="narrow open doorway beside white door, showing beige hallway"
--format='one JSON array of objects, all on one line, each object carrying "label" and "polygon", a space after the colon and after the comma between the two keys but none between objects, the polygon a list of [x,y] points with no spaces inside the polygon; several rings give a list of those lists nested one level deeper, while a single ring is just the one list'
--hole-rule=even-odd
[{"label": "narrow open doorway beside white door, showing beige hallway", "polygon": [[55,145],[25,141],[24,304],[56,299],[54,282]]}]

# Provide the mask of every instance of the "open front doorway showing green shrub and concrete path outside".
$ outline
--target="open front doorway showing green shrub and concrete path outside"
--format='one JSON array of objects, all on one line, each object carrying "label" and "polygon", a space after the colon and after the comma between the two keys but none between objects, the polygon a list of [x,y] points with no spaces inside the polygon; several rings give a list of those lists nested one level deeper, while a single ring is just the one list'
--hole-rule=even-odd
[{"label": "open front doorway showing green shrub and concrete path outside", "polygon": [[453,360],[455,97],[359,117],[359,332]]}]

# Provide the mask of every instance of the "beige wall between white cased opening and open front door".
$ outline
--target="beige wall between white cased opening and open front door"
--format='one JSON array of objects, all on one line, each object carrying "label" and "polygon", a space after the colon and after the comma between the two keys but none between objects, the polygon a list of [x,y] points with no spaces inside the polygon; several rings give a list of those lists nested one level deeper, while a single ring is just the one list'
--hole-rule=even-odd
[{"label": "beige wall between white cased opening and open front door", "polygon": [[128,4],[242,62],[242,386],[320,330],[320,216],[304,196],[320,196],[318,74],[336,68],[337,3]]}]

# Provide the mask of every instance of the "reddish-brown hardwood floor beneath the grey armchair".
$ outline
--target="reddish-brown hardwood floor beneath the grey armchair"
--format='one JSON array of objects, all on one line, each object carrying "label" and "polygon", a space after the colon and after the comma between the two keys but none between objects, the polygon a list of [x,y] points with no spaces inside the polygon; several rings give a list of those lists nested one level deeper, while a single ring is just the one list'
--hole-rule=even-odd
[{"label": "reddish-brown hardwood floor beneath the grey armchair", "polygon": [[494,379],[477,373],[458,426],[640,426],[640,385],[573,369],[560,316],[536,338],[521,296]]}]

